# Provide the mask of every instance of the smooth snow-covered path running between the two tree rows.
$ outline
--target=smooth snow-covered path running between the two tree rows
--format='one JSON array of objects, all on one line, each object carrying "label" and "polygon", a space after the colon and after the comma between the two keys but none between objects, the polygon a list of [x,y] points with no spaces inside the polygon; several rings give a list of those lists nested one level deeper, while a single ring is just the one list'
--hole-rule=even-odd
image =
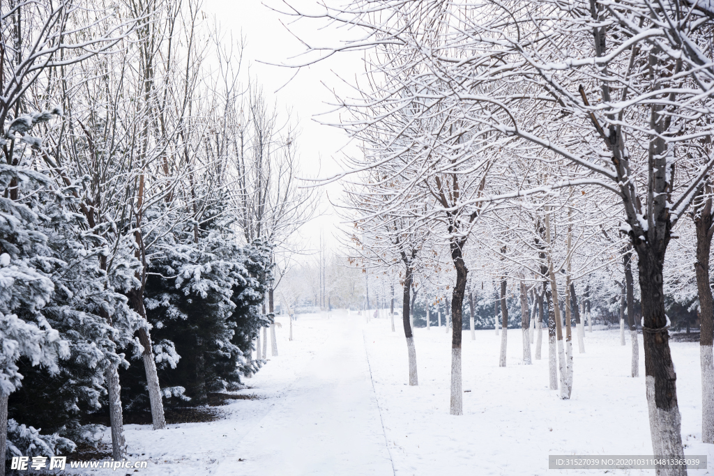
[{"label": "smooth snow-covered path running between the two tree rows", "polygon": [[343,316],[330,324],[318,354],[216,474],[393,475],[361,326]]}]

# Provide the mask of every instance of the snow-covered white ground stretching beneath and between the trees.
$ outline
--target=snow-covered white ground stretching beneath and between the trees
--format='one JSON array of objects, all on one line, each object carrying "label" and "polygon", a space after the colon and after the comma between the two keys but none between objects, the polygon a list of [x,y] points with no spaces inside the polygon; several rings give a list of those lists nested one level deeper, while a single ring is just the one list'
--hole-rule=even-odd
[{"label": "snow-covered white ground stretching beneath and between the trees", "polygon": [[[454,417],[448,414],[451,334],[443,327],[416,329],[419,385],[410,387],[401,321],[392,333],[386,319],[366,323],[344,311],[330,319],[301,315],[292,342],[288,320],[278,321],[280,355],[241,391],[261,398],[221,407],[226,418],[216,422],[169,425],[158,432],[127,425],[131,459],[149,460],[148,469],[130,474],[654,474],[548,470],[551,454],[652,453],[645,381],[628,376],[629,335],[623,347],[618,330],[586,332],[584,354],[575,344],[570,400],[548,390],[545,333],[544,359],[522,365],[521,330],[509,330],[507,367],[499,368],[501,338],[481,330],[472,341],[465,331],[464,415]],[[700,442],[698,343],[671,347],[685,453],[714,461],[713,445]],[[690,470],[699,474],[710,473]]]}]

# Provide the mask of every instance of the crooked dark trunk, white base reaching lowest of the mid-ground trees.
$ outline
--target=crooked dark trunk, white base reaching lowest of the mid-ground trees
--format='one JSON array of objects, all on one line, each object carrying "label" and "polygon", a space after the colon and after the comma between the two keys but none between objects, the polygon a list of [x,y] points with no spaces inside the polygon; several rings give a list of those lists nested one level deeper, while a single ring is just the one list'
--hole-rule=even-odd
[{"label": "crooked dark trunk, white base reaching lowest of the mid-ground trees", "polygon": [[461,327],[463,325],[463,295],[466,292],[468,268],[463,262],[463,241],[451,242],[451,260],[456,268],[456,285],[451,297],[451,415],[463,415],[463,390],[461,385]]}]

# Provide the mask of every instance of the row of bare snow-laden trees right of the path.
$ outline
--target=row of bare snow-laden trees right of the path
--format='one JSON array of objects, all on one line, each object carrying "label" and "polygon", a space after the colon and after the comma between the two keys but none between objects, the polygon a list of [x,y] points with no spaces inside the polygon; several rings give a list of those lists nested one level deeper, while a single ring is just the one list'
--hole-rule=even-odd
[{"label": "row of bare snow-laden trees right of the path", "polygon": [[[348,158],[346,172],[332,178],[350,176],[344,206],[356,225],[358,258],[399,276],[410,356],[406,316],[414,276],[450,286],[453,415],[463,411],[469,270],[491,270],[503,308],[506,281],[522,282],[524,320],[528,288],[538,296],[532,301],[552,303],[549,335],[567,398],[570,317],[578,309],[568,305],[572,285],[596,280],[596,270],[618,262],[623,273],[615,280],[633,336],[635,278],[639,283],[653,452],[682,456],[665,283],[678,282],[686,292],[684,263],[695,263],[703,438],[714,440],[708,261],[714,11],[707,5],[358,0],[318,16],[358,26],[349,30],[355,36],[310,49],[297,66],[339,51],[365,55],[358,95],[337,98],[341,120],[334,123],[363,144],[363,154]],[[670,246],[677,237],[687,244]],[[695,259],[686,253],[693,248]],[[448,280],[439,270],[451,271]],[[544,306],[538,308],[542,315]]]}]

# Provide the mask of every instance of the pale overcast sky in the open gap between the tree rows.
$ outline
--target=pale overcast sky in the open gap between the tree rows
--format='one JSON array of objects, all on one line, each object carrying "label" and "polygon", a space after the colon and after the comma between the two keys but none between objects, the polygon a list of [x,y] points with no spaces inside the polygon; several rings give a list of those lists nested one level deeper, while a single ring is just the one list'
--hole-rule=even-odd
[{"label": "pale overcast sky in the open gap between the tree rows", "polygon": [[[290,58],[304,51],[305,46],[286,29],[286,26],[301,39],[321,45],[337,44],[341,35],[349,32],[337,31],[329,27],[319,30],[319,26],[325,25],[322,21],[303,19],[291,24],[294,18],[279,14],[265,4],[283,11],[286,9],[281,0],[205,0],[203,10],[216,16],[221,29],[226,33],[226,41],[229,41],[230,33],[233,34],[234,39],[238,39],[241,33],[246,36],[243,73],[250,71],[251,77],[263,84],[266,94],[277,100],[279,111],[290,108],[293,116],[299,118],[301,135],[298,138],[298,148],[303,171],[314,176],[319,168],[320,176],[331,176],[340,171],[334,158],[341,156],[343,152],[357,153],[356,147],[348,144],[347,136],[337,128],[321,125],[315,119],[316,115],[331,109],[328,105],[328,102],[333,99],[331,89],[341,94],[348,93],[348,87],[337,75],[353,83],[355,75],[363,71],[361,55],[335,55],[301,69],[297,76],[291,79],[296,73],[295,69],[260,62],[295,64],[300,61]],[[316,0],[291,0],[291,4],[311,13],[323,11]],[[281,88],[286,83],[287,85]],[[341,187],[335,183],[326,187],[326,192],[334,200],[340,189]],[[323,202],[327,209],[325,198]],[[338,218],[328,210],[326,215],[316,218],[308,226],[303,227],[301,234],[313,248],[317,248],[318,237],[323,230],[328,245],[336,246],[336,240],[332,238],[332,235],[337,233],[336,223]]]}]

